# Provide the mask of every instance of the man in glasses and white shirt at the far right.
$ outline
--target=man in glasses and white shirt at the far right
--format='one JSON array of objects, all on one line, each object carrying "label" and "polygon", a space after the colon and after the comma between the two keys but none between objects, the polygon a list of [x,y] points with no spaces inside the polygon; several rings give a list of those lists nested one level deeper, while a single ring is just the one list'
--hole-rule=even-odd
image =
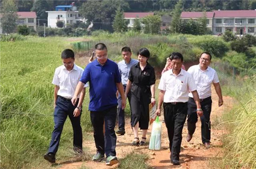
[{"label": "man in glasses and white shirt at the far right", "polygon": [[[203,52],[200,56],[199,65],[191,66],[187,72],[190,73],[197,85],[197,92],[200,98],[201,108],[203,109],[203,116],[201,120],[201,135],[202,142],[206,149],[210,148],[210,112],[211,112],[211,83],[219,97],[219,107],[223,105],[220,81],[214,69],[209,67],[211,55],[208,52]],[[190,142],[195,130],[198,120],[197,106],[193,99],[193,95],[189,93],[187,102],[187,142]]]}]

